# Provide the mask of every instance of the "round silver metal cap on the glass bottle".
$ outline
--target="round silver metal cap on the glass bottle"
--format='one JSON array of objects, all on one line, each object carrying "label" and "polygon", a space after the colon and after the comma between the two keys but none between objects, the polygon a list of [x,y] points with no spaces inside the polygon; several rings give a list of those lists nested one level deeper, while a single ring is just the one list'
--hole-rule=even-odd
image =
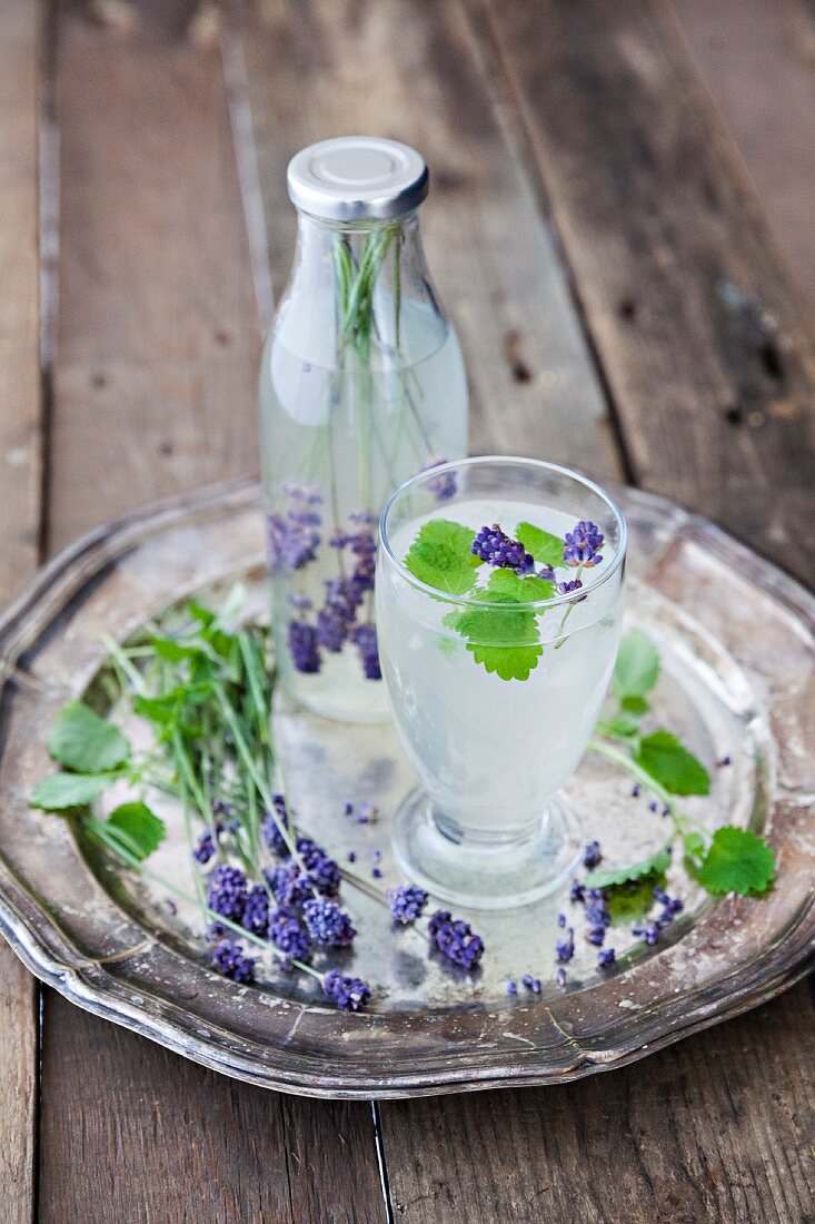
[{"label": "round silver metal cap on the glass bottle", "polygon": [[286,175],[296,208],[332,222],[388,220],[421,204],[427,165],[399,141],[338,136],[296,153]]}]

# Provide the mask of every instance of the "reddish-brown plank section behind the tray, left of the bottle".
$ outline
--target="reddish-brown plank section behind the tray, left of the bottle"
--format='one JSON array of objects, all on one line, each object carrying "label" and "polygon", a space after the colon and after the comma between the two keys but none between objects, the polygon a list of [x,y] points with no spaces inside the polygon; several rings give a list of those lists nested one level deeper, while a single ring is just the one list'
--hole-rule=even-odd
[{"label": "reddish-brown plank section behind the tray, left of the bottle", "polygon": [[220,56],[193,11],[62,10],[51,548],[257,466],[248,248]]}]

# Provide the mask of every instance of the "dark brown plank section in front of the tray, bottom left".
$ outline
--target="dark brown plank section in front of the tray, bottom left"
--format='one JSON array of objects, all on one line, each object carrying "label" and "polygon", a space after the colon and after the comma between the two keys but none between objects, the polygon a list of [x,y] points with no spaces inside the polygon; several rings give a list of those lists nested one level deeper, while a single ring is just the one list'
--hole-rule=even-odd
[{"label": "dark brown plank section in front of the tray, bottom left", "polygon": [[373,1224],[363,1104],[207,1071],[48,991],[39,1224]]}]

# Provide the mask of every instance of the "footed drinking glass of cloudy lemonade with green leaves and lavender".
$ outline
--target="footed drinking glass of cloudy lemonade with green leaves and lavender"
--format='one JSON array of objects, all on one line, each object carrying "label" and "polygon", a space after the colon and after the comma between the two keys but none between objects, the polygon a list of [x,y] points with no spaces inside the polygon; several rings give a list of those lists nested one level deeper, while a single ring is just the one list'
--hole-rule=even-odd
[{"label": "footed drinking glass of cloudy lemonade with green leaves and lavender", "polygon": [[379,530],[379,655],[420,778],[394,818],[396,859],[459,905],[535,901],[581,852],[559,788],[614,667],[623,515],[578,472],[498,457],[415,476]]}]

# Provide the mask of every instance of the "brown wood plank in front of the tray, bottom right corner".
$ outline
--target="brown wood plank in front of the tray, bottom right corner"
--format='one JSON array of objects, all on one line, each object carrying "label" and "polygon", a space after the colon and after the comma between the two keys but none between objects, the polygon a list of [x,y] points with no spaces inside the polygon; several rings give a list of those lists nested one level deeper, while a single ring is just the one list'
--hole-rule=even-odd
[{"label": "brown wood plank in front of the tray, bottom right corner", "polygon": [[805,985],[613,1075],[388,1105],[405,1224],[791,1224],[815,1209]]}]

